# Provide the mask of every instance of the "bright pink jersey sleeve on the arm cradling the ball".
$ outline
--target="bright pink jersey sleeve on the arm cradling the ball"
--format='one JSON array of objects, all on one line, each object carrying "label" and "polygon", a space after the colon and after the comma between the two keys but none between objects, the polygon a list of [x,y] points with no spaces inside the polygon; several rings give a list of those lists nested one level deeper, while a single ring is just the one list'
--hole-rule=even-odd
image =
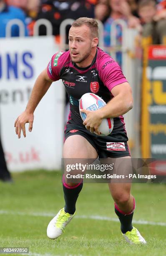
[{"label": "bright pink jersey sleeve on the arm cradling the ball", "polygon": [[128,82],[121,71],[121,67],[109,55],[106,55],[99,61],[98,74],[103,84],[110,91],[114,86]]}]

